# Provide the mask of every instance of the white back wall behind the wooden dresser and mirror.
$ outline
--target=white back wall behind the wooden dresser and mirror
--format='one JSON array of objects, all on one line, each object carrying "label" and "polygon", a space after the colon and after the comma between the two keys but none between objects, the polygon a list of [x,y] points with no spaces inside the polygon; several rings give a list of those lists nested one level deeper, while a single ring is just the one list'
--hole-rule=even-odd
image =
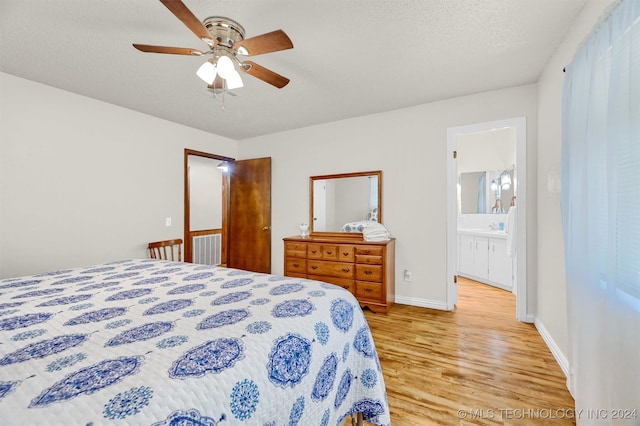
[{"label": "white back wall behind the wooden dresser and mirror", "polygon": [[[396,293],[404,302],[446,306],[447,128],[520,116],[528,119],[528,205],[535,212],[535,85],[239,141],[239,158],[272,157],[272,271],[284,269],[282,238],[298,234],[309,217],[310,176],[382,170],[383,222],[397,238]],[[535,217],[528,215],[533,273]],[[404,269],[413,282],[403,281]],[[529,280],[535,302],[535,275]]]}]

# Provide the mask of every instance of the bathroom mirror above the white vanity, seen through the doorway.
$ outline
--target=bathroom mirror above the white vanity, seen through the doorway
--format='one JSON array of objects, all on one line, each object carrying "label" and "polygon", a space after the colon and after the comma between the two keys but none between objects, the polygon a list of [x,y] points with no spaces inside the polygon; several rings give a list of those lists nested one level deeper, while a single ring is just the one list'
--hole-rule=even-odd
[{"label": "bathroom mirror above the white vanity, seen through the doorway", "polygon": [[514,196],[513,169],[460,173],[461,214],[507,213]]}]

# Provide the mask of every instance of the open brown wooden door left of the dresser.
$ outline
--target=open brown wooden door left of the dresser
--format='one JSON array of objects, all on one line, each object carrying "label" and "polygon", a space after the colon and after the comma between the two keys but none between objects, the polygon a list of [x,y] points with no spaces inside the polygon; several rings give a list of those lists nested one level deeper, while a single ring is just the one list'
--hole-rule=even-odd
[{"label": "open brown wooden door left of the dresser", "polygon": [[230,169],[228,266],[271,273],[271,158]]}]

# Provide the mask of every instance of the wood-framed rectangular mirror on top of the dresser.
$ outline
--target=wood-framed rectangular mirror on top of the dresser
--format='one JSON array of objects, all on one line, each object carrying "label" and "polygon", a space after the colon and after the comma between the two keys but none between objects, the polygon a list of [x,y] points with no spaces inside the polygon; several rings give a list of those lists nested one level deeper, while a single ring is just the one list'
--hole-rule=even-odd
[{"label": "wood-framed rectangular mirror on top of the dresser", "polygon": [[357,235],[382,223],[382,171],[311,176],[309,212],[311,234]]}]

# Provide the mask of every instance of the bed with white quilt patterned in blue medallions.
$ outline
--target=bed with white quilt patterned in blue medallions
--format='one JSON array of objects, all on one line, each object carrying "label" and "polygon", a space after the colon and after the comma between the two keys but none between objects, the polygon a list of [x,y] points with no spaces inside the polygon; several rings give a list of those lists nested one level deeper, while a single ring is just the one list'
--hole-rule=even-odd
[{"label": "bed with white quilt patterned in blue medallions", "polygon": [[389,425],[358,302],[133,259],[0,281],[0,424]]}]

